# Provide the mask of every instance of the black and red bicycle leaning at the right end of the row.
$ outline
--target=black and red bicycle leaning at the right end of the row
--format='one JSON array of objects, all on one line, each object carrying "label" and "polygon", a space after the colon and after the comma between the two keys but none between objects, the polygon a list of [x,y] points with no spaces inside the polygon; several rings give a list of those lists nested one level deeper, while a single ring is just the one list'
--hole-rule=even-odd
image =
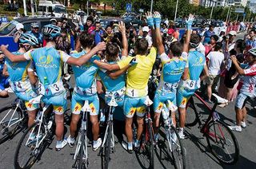
[{"label": "black and red bicycle leaning at the right end of the row", "polygon": [[[234,164],[237,163],[239,157],[239,146],[234,133],[228,128],[228,126],[220,121],[218,112],[215,111],[218,101],[218,96],[214,96],[214,106],[210,108],[208,104],[200,97],[197,93],[194,93],[194,96],[205,105],[209,112],[209,116],[206,119],[205,124],[202,124],[202,112],[198,112],[194,104],[194,99],[191,96],[188,104],[186,105],[187,115],[191,112],[188,112],[188,109],[192,108],[194,111],[193,116],[187,116],[186,119],[190,121],[186,123],[187,127],[194,126],[199,124],[200,132],[203,136],[206,136],[208,146],[210,147],[211,153],[217,158],[221,163],[225,164]],[[226,134],[225,134],[226,133]],[[234,149],[234,150],[233,150]]]}]

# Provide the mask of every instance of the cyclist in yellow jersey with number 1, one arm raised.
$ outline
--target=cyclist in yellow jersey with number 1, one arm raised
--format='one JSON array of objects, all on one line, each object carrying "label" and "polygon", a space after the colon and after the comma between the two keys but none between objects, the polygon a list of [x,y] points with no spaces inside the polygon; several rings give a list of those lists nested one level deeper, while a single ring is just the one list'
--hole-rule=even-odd
[{"label": "cyclist in yellow jersey with number 1, one arm raised", "polygon": [[[150,19],[153,21],[152,17]],[[154,22],[152,22],[152,28],[153,25]],[[154,36],[154,29],[152,30],[152,34]],[[134,147],[138,148],[140,142],[139,140],[143,132],[144,116],[146,111],[144,102],[146,101],[148,94],[147,82],[149,80],[157,54],[155,46],[156,45],[153,41],[150,53],[146,55],[149,44],[145,38],[140,38],[135,42],[136,57],[126,57],[122,61],[118,61],[116,64],[107,64],[100,61],[97,62],[97,65],[108,71],[123,69],[126,68],[126,66],[131,65],[126,76],[126,96],[123,107],[126,116],[125,123],[128,143],[127,145],[124,142],[122,143],[122,146],[129,153],[133,153],[132,124],[135,112],[137,115],[138,130]],[[134,58],[136,61],[134,61]]]}]

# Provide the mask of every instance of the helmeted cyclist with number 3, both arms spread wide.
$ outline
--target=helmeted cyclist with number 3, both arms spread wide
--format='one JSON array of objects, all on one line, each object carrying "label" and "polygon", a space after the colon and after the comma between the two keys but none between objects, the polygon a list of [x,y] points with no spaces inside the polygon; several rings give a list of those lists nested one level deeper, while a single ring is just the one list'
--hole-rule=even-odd
[{"label": "helmeted cyclist with number 3, both arms spread wide", "polygon": [[21,55],[14,55],[7,50],[7,45],[1,45],[2,52],[13,62],[33,60],[36,67],[36,72],[39,78],[39,92],[42,101],[45,104],[54,105],[56,137],[56,151],[60,151],[66,146],[66,140],[62,140],[64,132],[64,110],[66,108],[66,90],[62,84],[62,62],[70,65],[81,66],[90,60],[99,50],[105,49],[105,43],[99,43],[90,53],[86,53],[82,57],[70,57],[62,51],[54,49],[55,39],[61,34],[61,29],[58,26],[46,25],[42,29],[46,46],[39,49],[32,49]]}]

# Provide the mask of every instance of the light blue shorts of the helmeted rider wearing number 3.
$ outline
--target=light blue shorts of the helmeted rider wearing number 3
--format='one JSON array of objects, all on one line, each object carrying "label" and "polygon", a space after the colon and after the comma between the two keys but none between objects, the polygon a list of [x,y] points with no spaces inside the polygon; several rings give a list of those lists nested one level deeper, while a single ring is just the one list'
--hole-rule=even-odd
[{"label": "light blue shorts of the helmeted rider wearing number 3", "polygon": [[66,110],[66,91],[56,96],[43,96],[42,102],[54,105],[54,113],[62,115]]}]

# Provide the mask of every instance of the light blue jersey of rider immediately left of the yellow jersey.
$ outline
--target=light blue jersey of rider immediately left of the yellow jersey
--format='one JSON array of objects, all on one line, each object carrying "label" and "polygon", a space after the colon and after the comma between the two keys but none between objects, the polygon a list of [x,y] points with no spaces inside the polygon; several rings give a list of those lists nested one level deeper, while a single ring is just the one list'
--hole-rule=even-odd
[{"label": "light blue jersey of rider immediately left of the yellow jersey", "polygon": [[[116,63],[116,61],[114,62],[108,62],[109,64],[114,64]],[[101,78],[102,83],[104,85],[104,87],[106,88],[106,91],[108,92],[114,92],[114,91],[118,91],[122,88],[125,87],[126,85],[126,75],[125,73],[122,73],[121,76],[119,76],[116,79],[111,79],[106,72],[102,72],[102,70],[98,71],[98,76]]]}]

